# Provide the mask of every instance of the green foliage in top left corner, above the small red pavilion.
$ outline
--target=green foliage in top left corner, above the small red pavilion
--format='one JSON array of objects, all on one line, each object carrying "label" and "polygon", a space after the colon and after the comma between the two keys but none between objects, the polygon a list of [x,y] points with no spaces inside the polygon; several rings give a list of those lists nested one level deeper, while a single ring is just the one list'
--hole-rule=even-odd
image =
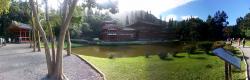
[{"label": "green foliage in top left corner, above the small red pavilion", "polygon": [[7,27],[9,27],[12,21],[28,24],[31,19],[28,2],[14,1],[9,5],[10,9],[8,13],[4,12],[5,14],[0,15],[0,36],[13,37],[12,33],[7,32]]}]

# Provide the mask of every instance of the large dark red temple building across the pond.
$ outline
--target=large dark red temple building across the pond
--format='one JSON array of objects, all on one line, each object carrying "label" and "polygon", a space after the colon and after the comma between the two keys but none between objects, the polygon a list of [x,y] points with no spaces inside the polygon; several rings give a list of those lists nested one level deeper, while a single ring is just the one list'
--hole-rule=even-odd
[{"label": "large dark red temple building across the pond", "polygon": [[103,41],[163,41],[176,39],[174,30],[166,25],[137,21],[125,27],[104,22],[101,31]]}]

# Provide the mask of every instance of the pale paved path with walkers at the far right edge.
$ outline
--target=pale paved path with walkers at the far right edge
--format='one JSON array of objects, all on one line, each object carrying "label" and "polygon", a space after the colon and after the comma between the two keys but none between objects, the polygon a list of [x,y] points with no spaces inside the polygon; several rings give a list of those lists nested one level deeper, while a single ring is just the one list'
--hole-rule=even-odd
[{"label": "pale paved path with walkers at the far right edge", "polygon": [[[235,45],[234,45],[235,46]],[[247,62],[247,73],[249,74],[250,72],[250,46],[245,46],[244,48],[241,46],[239,47],[241,49],[241,51],[243,51],[244,55],[245,55],[245,59]],[[250,79],[250,76],[248,75],[248,79]]]}]

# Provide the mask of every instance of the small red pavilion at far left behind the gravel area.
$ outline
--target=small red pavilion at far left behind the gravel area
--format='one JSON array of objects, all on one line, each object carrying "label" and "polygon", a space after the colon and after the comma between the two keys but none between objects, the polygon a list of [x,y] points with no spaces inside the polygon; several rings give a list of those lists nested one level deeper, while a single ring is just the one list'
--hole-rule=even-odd
[{"label": "small red pavilion at far left behind the gravel area", "polygon": [[31,26],[24,23],[12,21],[7,30],[13,34],[12,42],[24,43],[30,42]]}]

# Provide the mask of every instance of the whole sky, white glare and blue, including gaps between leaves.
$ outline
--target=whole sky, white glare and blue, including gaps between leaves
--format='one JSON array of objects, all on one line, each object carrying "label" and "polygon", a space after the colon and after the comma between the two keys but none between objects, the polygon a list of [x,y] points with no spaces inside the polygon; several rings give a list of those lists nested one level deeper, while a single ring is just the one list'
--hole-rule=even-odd
[{"label": "whole sky, white glare and blue, including gaps between leaves", "polygon": [[[42,0],[38,0],[42,1]],[[49,0],[50,6],[56,8],[60,0]],[[103,3],[108,0],[97,0]],[[206,20],[218,10],[224,10],[228,15],[229,25],[234,25],[236,19],[250,12],[250,0],[117,0],[119,13],[134,10],[151,11],[156,17],[161,15],[165,20],[174,18],[182,20],[199,17]],[[79,1],[79,4],[82,1]]]}]

